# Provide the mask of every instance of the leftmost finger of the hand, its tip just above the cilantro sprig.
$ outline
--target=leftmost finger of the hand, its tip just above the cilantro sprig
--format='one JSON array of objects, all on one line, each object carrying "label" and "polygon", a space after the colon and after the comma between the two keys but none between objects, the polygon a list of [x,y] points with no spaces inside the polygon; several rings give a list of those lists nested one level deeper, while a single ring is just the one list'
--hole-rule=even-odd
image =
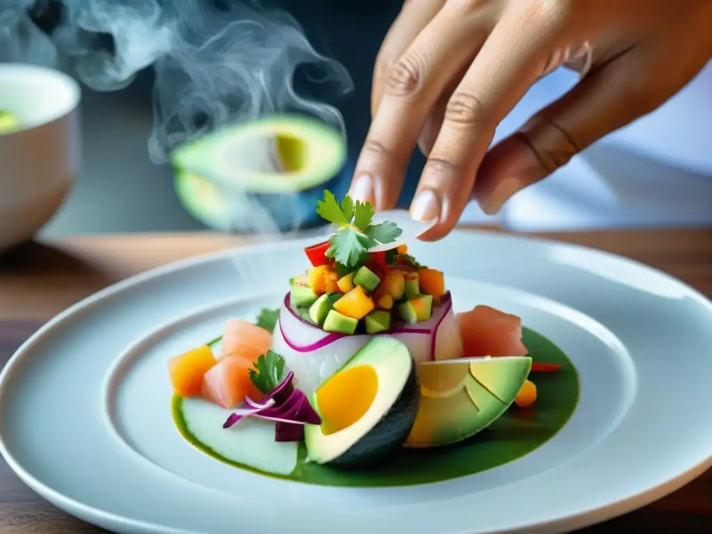
[{"label": "leftmost finger of the hand, its tip just above the cilantro sprig", "polygon": [[471,4],[441,9],[389,71],[356,165],[354,197],[375,199],[379,210],[395,206],[427,115],[486,38],[481,14]]}]

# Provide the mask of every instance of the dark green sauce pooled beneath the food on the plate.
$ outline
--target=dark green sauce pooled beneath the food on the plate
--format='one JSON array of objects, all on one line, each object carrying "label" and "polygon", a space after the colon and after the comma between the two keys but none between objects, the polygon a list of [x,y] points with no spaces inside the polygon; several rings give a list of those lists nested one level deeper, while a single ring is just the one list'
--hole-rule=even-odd
[{"label": "dark green sauce pooled beneath the food on the plate", "polygon": [[297,468],[286,477],[261,473],[256,469],[222,458],[192,436],[181,411],[181,397],[174,397],[172,413],[180,434],[190,444],[216,460],[231,466],[320,486],[411,486],[446,481],[472,475],[525,456],[555,436],[570,419],[579,398],[579,380],[575,367],[553,342],[528,328],[523,342],[534,362],[561,365],[557,372],[533,372],[537,387],[533,406],[514,404],[488,428],[457,444],[434,449],[402,449],[372,470],[350,471],[320,466],[306,461],[306,449],[300,446]]}]

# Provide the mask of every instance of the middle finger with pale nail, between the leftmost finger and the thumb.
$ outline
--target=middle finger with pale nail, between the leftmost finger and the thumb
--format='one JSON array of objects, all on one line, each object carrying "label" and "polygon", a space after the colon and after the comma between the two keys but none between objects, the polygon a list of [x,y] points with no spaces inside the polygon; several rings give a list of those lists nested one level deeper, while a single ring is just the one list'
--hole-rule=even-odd
[{"label": "middle finger with pale nail, between the leftmost finger and the thumb", "polygon": [[538,11],[540,4],[517,4],[503,14],[446,106],[411,206],[416,219],[438,219],[424,240],[455,226],[498,123],[543,73],[561,38],[567,14]]}]

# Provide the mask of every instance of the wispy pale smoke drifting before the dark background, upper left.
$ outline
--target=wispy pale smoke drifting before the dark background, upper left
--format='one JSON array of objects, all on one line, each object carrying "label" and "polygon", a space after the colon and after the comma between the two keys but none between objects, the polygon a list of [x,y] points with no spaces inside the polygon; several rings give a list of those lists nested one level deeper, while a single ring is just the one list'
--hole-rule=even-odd
[{"label": "wispy pale smoke drifting before the dark background, upper left", "polygon": [[[55,20],[38,27],[48,12]],[[277,112],[306,112],[345,132],[337,108],[295,92],[304,63],[341,93],[352,88],[295,19],[254,1],[0,0],[0,61],[64,68],[99,91],[124,88],[153,66],[155,163],[207,131]]]}]

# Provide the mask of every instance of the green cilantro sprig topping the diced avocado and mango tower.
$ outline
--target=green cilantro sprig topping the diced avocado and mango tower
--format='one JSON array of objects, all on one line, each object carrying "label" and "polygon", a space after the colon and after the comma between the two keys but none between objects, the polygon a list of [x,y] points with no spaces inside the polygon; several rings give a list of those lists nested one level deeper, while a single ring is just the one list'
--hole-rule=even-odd
[{"label": "green cilantro sprig topping the diced avocado and mango tower", "polygon": [[362,262],[372,246],[392,243],[402,234],[402,230],[391,221],[372,224],[375,214],[373,205],[354,201],[348,195],[339,204],[334,194],[325,190],[324,199],[317,202],[316,212],[338,227],[329,238],[326,255],[346,267],[355,267]]}]

